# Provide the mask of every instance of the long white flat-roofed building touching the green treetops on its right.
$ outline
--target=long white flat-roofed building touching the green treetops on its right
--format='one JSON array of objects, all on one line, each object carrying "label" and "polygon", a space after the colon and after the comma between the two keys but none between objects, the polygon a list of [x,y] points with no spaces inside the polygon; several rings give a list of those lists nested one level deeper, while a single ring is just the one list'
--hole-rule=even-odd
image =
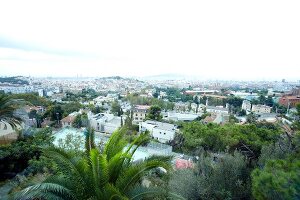
[{"label": "long white flat-roofed building touching the green treetops on its right", "polygon": [[146,130],[150,132],[153,139],[157,139],[161,143],[167,143],[174,139],[177,127],[174,124],[152,120],[140,122],[139,131],[144,132]]}]

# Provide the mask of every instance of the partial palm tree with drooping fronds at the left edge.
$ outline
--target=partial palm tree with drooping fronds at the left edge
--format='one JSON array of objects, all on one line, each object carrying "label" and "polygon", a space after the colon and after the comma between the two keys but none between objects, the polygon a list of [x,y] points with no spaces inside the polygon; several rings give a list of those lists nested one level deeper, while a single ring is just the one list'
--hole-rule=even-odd
[{"label": "partial palm tree with drooping fronds at the left edge", "polygon": [[13,129],[20,125],[21,119],[14,115],[14,111],[19,105],[19,100],[11,99],[6,95],[0,95],[0,121],[9,123]]}]

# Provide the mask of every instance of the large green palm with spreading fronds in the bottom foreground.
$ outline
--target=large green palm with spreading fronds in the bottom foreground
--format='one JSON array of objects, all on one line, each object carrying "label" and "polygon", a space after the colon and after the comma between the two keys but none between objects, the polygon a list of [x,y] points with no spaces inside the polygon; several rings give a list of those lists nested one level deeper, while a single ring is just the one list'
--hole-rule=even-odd
[{"label": "large green palm with spreading fronds in the bottom foreground", "polygon": [[[148,199],[165,194],[157,187],[145,188],[142,178],[151,169],[170,169],[170,157],[151,157],[133,162],[137,148],[148,140],[142,134],[127,146],[124,134],[112,134],[103,152],[91,149],[89,154],[76,156],[62,149],[44,150],[56,165],[57,172],[45,181],[18,192],[16,199]],[[77,154],[78,155],[78,154]],[[175,194],[169,196],[180,198]]]}]

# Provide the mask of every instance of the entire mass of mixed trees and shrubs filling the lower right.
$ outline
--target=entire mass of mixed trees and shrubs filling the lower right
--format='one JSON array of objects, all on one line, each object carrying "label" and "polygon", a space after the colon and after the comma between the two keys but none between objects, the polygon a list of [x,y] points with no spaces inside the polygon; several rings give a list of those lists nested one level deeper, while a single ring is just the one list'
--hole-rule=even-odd
[{"label": "entire mass of mixed trees and shrubs filling the lower right", "polygon": [[197,156],[175,171],[170,190],[187,199],[299,199],[300,133],[270,123],[184,123],[178,151]]}]

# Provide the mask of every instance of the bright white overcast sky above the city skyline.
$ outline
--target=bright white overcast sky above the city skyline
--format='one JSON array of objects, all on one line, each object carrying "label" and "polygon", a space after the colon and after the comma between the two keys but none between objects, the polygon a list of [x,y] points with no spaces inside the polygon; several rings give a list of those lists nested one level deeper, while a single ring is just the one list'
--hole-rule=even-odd
[{"label": "bright white overcast sky above the city skyline", "polygon": [[300,1],[0,2],[0,76],[300,80]]}]

